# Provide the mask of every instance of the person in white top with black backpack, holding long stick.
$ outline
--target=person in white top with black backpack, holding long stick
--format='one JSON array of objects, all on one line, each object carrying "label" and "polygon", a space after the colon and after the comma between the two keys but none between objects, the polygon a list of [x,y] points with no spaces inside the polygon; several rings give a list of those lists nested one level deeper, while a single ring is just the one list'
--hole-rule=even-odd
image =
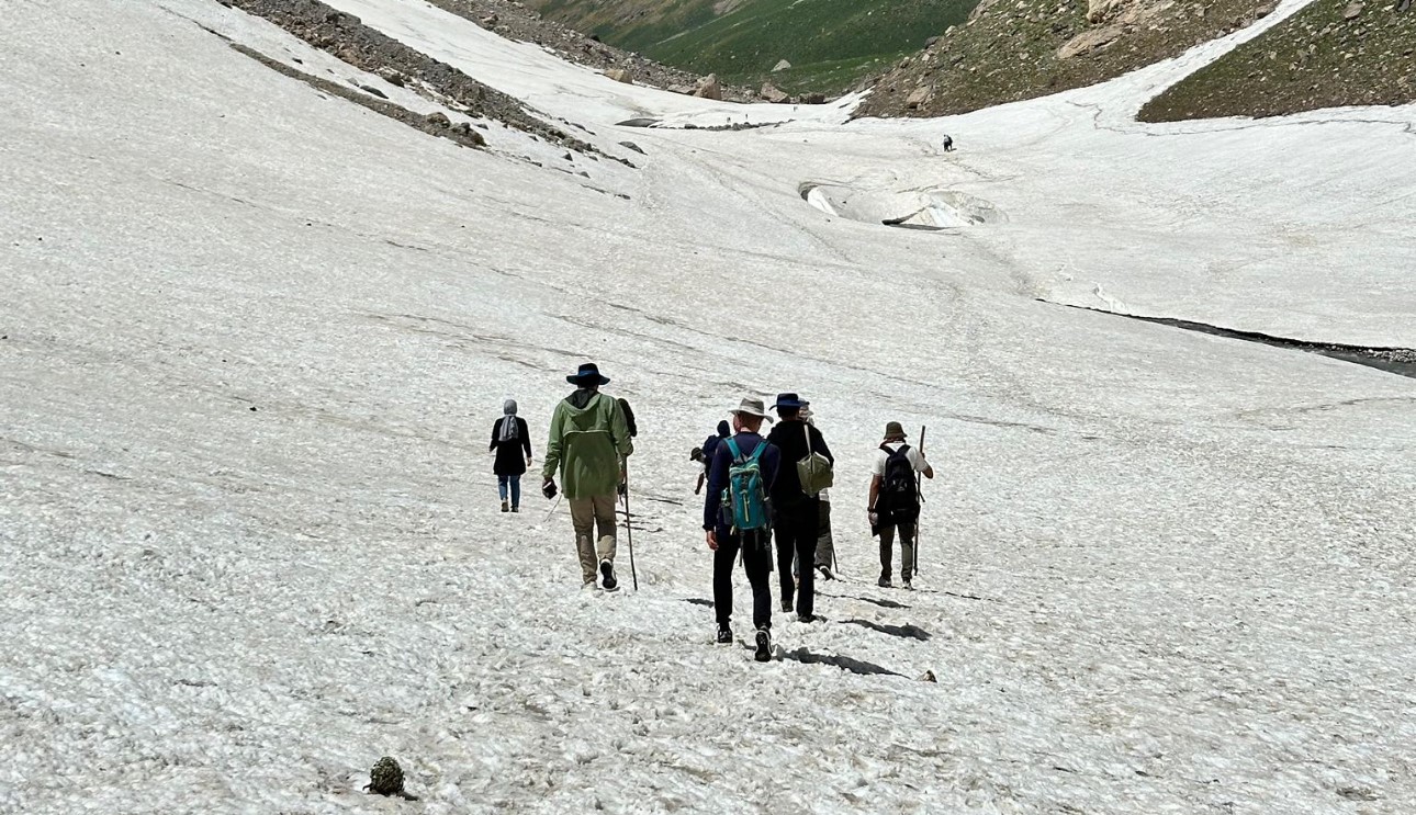
[{"label": "person in white top with black backpack, holding long stick", "polygon": [[919,521],[919,490],[915,473],[935,477],[935,468],[923,453],[905,443],[905,429],[899,422],[885,424],[885,441],[875,454],[871,477],[871,526],[879,526],[881,579],[879,586],[891,586],[891,556],[895,529],[899,529],[899,579],[912,589],[909,577],[915,570],[915,525]]}]

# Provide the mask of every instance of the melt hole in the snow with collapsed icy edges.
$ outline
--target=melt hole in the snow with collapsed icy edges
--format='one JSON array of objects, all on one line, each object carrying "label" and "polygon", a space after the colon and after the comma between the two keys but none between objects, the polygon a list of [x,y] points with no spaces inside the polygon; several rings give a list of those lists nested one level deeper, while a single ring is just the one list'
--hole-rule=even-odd
[{"label": "melt hole in the snow with collapsed icy edges", "polygon": [[957,190],[858,190],[806,181],[797,191],[803,201],[827,215],[903,229],[952,229],[1008,221],[991,201]]}]

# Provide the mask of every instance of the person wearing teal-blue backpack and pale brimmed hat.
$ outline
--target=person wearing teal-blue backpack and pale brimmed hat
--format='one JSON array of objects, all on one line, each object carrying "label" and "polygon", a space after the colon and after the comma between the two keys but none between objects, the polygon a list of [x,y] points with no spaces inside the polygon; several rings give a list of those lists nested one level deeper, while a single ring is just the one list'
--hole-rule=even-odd
[{"label": "person wearing teal-blue backpack and pale brimmed hat", "polygon": [[758,662],[772,659],[772,522],[767,494],[777,478],[782,453],[758,432],[772,422],[762,399],[746,398],[731,410],[733,436],[714,450],[704,501],[704,532],[712,557],[712,600],[718,642],[732,642],[732,566],[742,566],[752,584],[752,624]]}]

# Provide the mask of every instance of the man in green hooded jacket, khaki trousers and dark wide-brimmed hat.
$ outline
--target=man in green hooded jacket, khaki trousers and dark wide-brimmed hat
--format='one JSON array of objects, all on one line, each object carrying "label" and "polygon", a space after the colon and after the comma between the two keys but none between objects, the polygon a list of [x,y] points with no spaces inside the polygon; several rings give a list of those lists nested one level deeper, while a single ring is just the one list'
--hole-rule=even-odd
[{"label": "man in green hooded jacket, khaki trousers and dark wide-brimmed hat", "polygon": [[613,591],[619,587],[615,579],[616,494],[624,481],[624,458],[634,446],[629,440],[624,410],[617,400],[600,393],[600,385],[609,385],[609,379],[600,376],[593,362],[581,365],[565,381],[576,391],[562,399],[551,416],[551,439],[541,467],[542,490],[555,485],[559,470],[581,553],[582,589],[595,589],[599,562],[600,584]]}]

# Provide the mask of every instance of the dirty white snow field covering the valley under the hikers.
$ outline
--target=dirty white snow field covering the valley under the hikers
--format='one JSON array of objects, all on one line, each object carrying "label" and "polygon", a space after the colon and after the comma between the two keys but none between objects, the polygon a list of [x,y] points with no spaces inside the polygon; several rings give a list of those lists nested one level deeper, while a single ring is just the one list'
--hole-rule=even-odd
[{"label": "dirty white snow field covering the valley under the hikers", "polygon": [[[433,40],[415,8],[355,13]],[[960,123],[624,132],[643,170],[585,180],[520,160],[535,146],[515,134],[473,151],[323,98],[184,18],[211,16],[320,65],[198,0],[0,8],[0,809],[1416,805],[1412,385],[1031,300],[1070,290],[1035,260],[1061,243],[1124,303],[1410,345],[1406,243],[1383,225],[1408,205],[1399,163],[1354,154],[1347,187],[1293,171],[1334,154],[1283,125],[1112,133],[1052,99]],[[432,21],[449,62],[489,42]],[[582,100],[593,75],[511,54],[486,61],[518,96],[616,139],[626,103]],[[1331,127],[1399,154],[1399,127]],[[947,161],[939,129],[963,149]],[[1206,198],[1197,164],[1229,184]],[[797,195],[830,178],[950,184],[1010,224],[844,222]],[[1355,282],[1297,270],[1260,297],[1252,266],[1212,287],[1175,272],[1212,236],[1272,270],[1289,255],[1256,232],[1328,214],[1364,246]],[[583,359],[643,429],[639,593],[581,593],[565,507],[547,519],[530,478],[501,515],[483,453],[515,396],[539,458]],[[688,449],[779,389],[813,400],[841,461],[847,580],[820,586],[827,623],[776,615],[777,644],[901,676],[755,665],[709,645],[688,601],[711,596]],[[871,584],[864,531],[891,419],[929,424],[940,471],[909,594]],[[739,579],[739,635],[748,600]],[[382,754],[419,804],[360,792]]]}]

